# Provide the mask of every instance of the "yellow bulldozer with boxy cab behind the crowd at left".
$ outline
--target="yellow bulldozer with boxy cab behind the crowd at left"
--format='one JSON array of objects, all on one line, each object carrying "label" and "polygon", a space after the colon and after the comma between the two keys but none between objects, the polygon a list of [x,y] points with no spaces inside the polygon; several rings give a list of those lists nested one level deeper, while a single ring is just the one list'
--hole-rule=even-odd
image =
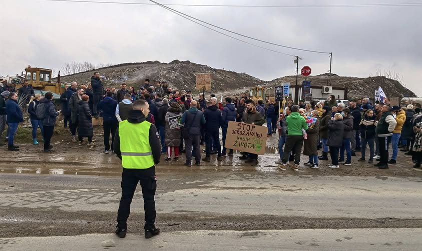
[{"label": "yellow bulldozer with boxy cab behind the crowd at left", "polygon": [[[22,71],[21,75],[29,81],[29,84],[32,85],[34,91],[44,94],[48,91],[53,92],[54,98],[57,98],[57,95],[60,97],[60,93],[65,91],[66,86],[64,83],[54,83],[52,82],[52,70],[46,68],[38,67],[28,67],[25,68],[25,71]],[[20,88],[22,83],[16,84],[16,88]]]}]

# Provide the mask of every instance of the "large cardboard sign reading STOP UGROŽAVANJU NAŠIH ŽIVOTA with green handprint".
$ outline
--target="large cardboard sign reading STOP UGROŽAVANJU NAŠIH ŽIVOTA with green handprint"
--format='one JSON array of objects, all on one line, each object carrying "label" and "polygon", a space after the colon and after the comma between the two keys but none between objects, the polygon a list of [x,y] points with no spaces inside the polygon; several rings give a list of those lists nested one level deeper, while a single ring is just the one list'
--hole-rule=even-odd
[{"label": "large cardboard sign reading STOP UGRO\u017dAVANJU NA\u0160IH \u017dIVOTA with green handprint", "polygon": [[229,121],[225,147],[255,154],[264,154],[268,128],[256,124]]}]

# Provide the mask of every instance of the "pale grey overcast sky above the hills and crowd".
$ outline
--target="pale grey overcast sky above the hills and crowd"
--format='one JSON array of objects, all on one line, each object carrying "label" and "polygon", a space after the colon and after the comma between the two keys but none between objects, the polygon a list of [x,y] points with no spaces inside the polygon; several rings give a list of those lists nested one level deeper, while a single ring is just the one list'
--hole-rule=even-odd
[{"label": "pale grey overcast sky above the hills and crowd", "polygon": [[[111,1],[111,0],[105,0]],[[148,0],[113,0],[149,2]],[[158,0],[161,3],[323,5],[348,0]],[[355,0],[404,3],[408,0]],[[417,1],[413,1],[417,2]],[[420,1],[422,2],[422,1]],[[198,7],[171,6],[212,24],[292,47],[333,52],[332,72],[366,77],[377,68],[403,76],[422,95],[422,6]],[[0,0],[0,74],[32,66],[60,69],[70,61],[124,63],[174,59],[246,72],[263,80],[295,74],[293,57],[218,34],[158,5]],[[241,38],[241,37],[239,37]],[[241,38],[247,39],[247,38]],[[248,39],[247,39],[248,40]],[[329,69],[328,54],[248,40],[299,55],[299,68]]]}]

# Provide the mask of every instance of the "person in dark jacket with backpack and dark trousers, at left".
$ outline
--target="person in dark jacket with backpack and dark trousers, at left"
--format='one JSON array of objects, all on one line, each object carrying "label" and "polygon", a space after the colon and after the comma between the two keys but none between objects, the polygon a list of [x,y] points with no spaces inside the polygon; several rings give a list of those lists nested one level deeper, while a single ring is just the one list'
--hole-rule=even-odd
[{"label": "person in dark jacket with backpack and dark trousers, at left", "polygon": [[59,115],[59,111],[56,111],[53,103],[53,93],[47,92],[44,98],[40,100],[40,104],[45,104],[46,115],[43,119],[44,127],[44,152],[51,152],[53,145],[50,144],[51,137],[53,136],[54,126],[56,124],[56,117]]}]

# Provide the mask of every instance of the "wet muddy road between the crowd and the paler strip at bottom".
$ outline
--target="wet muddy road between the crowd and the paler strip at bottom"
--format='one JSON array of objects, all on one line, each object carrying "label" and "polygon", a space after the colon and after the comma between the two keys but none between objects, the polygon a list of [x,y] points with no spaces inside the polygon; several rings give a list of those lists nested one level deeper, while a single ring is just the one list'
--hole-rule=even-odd
[{"label": "wet muddy road between the crowd and the paler strip at bottom", "polygon": [[[53,140],[55,152],[49,154],[31,144],[21,144],[19,152],[0,150],[0,249],[14,237],[113,231],[122,167],[114,154],[102,152],[101,136],[96,139],[92,148]],[[192,167],[183,166],[184,155],[162,161],[156,168],[157,226],[170,239],[178,231],[248,236],[248,230],[260,230],[261,236],[283,229],[422,228],[422,171],[411,168],[402,152],[386,170],[353,157],[351,166],[339,169],[320,161],[319,169],[282,172],[275,164],[276,143],[276,137],[269,139],[255,166],[237,153],[222,161],[211,155],[210,163]],[[143,218],[138,189],[128,231],[141,233]]]}]

